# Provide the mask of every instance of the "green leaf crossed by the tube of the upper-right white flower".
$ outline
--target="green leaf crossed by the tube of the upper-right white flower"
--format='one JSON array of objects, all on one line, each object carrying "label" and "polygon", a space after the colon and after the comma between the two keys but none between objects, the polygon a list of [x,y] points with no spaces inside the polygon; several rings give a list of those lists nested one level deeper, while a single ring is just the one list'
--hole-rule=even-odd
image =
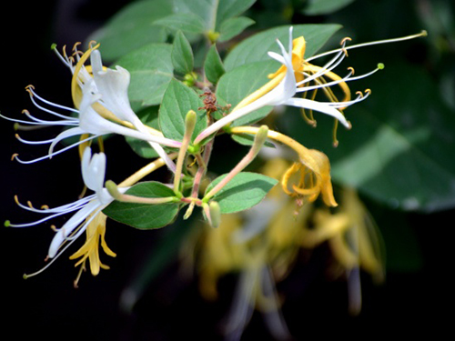
[{"label": "green leaf crossed by the tube of the upper-right white flower", "polygon": [[[217,100],[220,105],[230,104],[234,108],[249,94],[268,83],[268,74],[279,67],[273,60],[242,65],[223,75],[217,85]],[[250,125],[264,118],[273,109],[264,106],[235,120],[232,125]]]}]

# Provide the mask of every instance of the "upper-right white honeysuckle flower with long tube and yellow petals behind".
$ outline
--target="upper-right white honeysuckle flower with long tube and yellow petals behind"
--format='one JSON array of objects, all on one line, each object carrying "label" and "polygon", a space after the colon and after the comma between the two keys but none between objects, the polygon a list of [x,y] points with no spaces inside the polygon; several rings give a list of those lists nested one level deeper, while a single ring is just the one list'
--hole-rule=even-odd
[{"label": "upper-right white honeysuckle flower with long tube and yellow petals behind", "polygon": [[[332,53],[337,55],[332,58],[326,65],[319,67],[316,65],[310,65],[303,58],[305,53],[305,40],[303,36],[296,39],[292,39],[292,27],[289,28],[289,41],[288,51],[277,39],[277,43],[281,50],[281,55],[275,52],[268,52],[268,55],[277,60],[282,66],[278,69],[275,74],[269,75],[271,80],[259,88],[257,91],[248,95],[243,99],[228,115],[219,119],[213,125],[209,125],[200,135],[197,136],[195,143],[201,142],[204,138],[217,132],[222,127],[232,123],[238,118],[248,115],[249,113],[258,110],[259,108],[266,105],[290,105],[297,106],[302,109],[319,111],[323,114],[335,117],[342,125],[350,128],[350,124],[342,114],[341,110],[349,105],[358,103],[368,97],[370,91],[366,91],[366,95],[359,93],[358,97],[350,100],[350,91],[346,82],[358,80],[366,77],[383,68],[383,65],[379,64],[378,67],[365,75],[359,75],[352,77],[353,69],[349,68],[349,74],[344,78],[339,77],[331,72],[339,63],[344,59],[346,51],[344,45],[346,40],[342,42],[342,48],[335,50]],[[330,82],[321,82],[322,77],[327,77]],[[309,85],[310,82],[314,85]],[[339,85],[345,98],[343,101],[338,101],[333,96],[329,96],[329,102],[320,102],[313,99],[295,97],[298,93],[306,93],[311,90],[318,90],[320,88],[327,89],[330,86]],[[329,89],[331,94],[331,90]]]}]

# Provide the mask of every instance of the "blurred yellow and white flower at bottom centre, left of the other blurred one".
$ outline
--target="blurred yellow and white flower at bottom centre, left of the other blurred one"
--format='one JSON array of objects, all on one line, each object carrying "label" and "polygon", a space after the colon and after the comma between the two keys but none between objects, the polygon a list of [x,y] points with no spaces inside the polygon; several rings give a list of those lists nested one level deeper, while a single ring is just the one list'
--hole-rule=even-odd
[{"label": "blurred yellow and white flower at bottom centre, left of the other blurred one", "polygon": [[[239,339],[256,309],[267,320],[274,336],[288,336],[270,266],[270,241],[264,239],[263,234],[238,240],[238,233],[245,228],[242,217],[240,214],[226,215],[218,228],[205,226],[200,231],[196,241],[200,292],[207,299],[215,299],[219,279],[227,274],[238,274],[236,292],[224,326],[225,335]],[[247,214],[247,225],[249,218],[254,219]]]}]

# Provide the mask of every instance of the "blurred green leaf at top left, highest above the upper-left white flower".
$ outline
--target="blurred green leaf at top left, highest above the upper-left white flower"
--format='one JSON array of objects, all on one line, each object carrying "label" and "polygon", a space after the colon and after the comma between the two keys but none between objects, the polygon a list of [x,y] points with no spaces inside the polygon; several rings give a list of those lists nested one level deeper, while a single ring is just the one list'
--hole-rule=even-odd
[{"label": "blurred green leaf at top left, highest above the upper-left white flower", "polygon": [[143,45],[164,43],[167,39],[166,28],[154,23],[170,14],[171,1],[138,1],[126,5],[87,41],[100,43],[103,59],[113,61]]}]

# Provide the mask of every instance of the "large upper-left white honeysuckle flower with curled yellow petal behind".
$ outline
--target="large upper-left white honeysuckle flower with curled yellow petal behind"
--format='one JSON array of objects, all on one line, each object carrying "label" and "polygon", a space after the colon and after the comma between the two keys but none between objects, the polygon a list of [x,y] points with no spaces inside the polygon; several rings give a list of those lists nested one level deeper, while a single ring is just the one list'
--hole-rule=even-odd
[{"label": "large upper-left white honeysuckle flower with curled yellow petal behind", "polygon": [[[77,51],[76,51],[77,52]],[[59,54],[58,54],[59,55]],[[50,144],[48,155],[31,161],[23,161],[15,157],[21,163],[33,163],[46,157],[59,154],[75,145],[86,144],[87,141],[101,135],[118,134],[136,137],[147,141],[157,150],[169,169],[175,171],[175,164],[167,156],[161,145],[178,148],[181,143],[167,139],[163,135],[144,125],[131,109],[127,96],[130,75],[128,71],[120,66],[116,70],[107,69],[102,65],[101,55],[96,47],[90,47],[85,54],[75,54],[77,64],[74,65],[75,57],[67,57],[66,54],[59,55],[73,73],[72,95],[76,109],[57,105],[45,100],[35,93],[33,86],[27,86],[27,91],[33,104],[47,114],[57,119],[45,120],[30,115],[28,111],[23,113],[30,119],[19,120],[15,118],[2,117],[22,125],[64,125],[70,127],[54,139],[45,141],[27,141],[21,137],[18,139],[27,144]],[[90,67],[85,66],[86,59],[90,56]],[[69,114],[63,115],[56,110],[63,110]],[[54,148],[57,143],[74,135],[83,136],[82,139],[73,145],[68,145],[56,152]]]}]

